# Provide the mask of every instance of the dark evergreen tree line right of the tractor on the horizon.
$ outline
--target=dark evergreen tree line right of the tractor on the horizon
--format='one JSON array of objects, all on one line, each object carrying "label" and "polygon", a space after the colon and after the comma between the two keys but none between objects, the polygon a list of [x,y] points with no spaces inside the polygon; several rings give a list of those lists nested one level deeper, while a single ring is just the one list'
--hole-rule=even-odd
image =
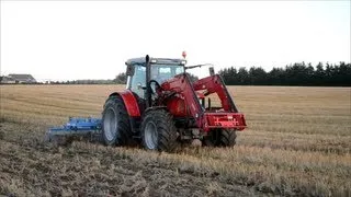
[{"label": "dark evergreen tree line right of the tractor on the horizon", "polygon": [[225,68],[218,72],[228,85],[351,86],[351,63],[295,62],[267,72],[261,67]]}]

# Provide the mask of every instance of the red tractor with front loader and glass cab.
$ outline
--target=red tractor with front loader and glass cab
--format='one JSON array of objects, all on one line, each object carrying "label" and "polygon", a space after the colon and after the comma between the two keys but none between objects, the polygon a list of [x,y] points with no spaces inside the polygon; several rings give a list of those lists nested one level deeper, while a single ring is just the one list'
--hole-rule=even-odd
[{"label": "red tractor with front loader and glass cab", "polygon": [[[145,149],[173,151],[178,142],[231,147],[236,131],[246,128],[244,114],[214,74],[192,82],[184,59],[134,58],[127,66],[127,85],[106,100],[101,120],[107,146],[133,141]],[[211,106],[216,93],[222,106]]]}]

